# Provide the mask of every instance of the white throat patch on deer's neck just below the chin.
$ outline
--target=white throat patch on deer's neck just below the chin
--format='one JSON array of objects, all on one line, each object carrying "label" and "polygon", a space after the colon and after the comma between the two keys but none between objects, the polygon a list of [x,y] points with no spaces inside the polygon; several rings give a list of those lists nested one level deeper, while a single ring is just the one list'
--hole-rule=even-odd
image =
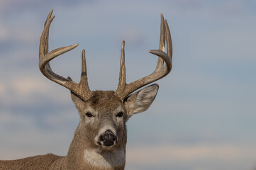
[{"label": "white throat patch on deer's neck just below the chin", "polygon": [[126,154],[123,150],[113,152],[96,152],[84,149],[84,159],[88,164],[101,169],[123,166],[126,162]]}]

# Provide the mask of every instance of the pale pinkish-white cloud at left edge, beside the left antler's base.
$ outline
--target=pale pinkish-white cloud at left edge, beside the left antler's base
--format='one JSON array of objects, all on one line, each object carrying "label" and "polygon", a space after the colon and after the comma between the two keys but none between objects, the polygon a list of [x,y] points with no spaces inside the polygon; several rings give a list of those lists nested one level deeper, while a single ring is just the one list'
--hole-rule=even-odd
[{"label": "pale pinkish-white cloud at left edge, beside the left antler's base", "polygon": [[[36,77],[13,78],[0,84],[0,101],[4,106],[35,106],[43,99],[57,103],[70,103],[69,92],[52,81]],[[38,97],[40,96],[40,97]]]}]

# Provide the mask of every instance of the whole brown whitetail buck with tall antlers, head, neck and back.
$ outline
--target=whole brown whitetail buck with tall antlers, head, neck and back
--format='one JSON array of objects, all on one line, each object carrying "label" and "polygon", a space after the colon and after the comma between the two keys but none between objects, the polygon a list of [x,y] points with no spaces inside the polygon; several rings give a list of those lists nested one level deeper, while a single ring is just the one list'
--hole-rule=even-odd
[{"label": "whole brown whitetail buck with tall antlers, head, neck and back", "polygon": [[[13,161],[1,161],[0,169],[70,169],[104,170],[124,169],[126,163],[126,121],[135,113],[146,111],[157,95],[158,85],[152,84],[140,91],[137,89],[165,77],[172,69],[172,41],[167,21],[161,13],[159,50],[149,52],[158,56],[155,71],[130,84],[126,84],[124,41],[121,46],[121,68],[116,91],[91,91],[87,82],[87,67],[82,51],[82,74],[79,84],[65,79],[50,68],[50,60],[74,49],[76,45],[60,47],[48,52],[48,35],[53,18],[50,11],[40,38],[39,67],[48,79],[71,91],[72,101],[80,115],[80,123],[67,156],[46,154]],[[167,53],[165,53],[165,41]],[[164,64],[165,61],[165,64]]]}]

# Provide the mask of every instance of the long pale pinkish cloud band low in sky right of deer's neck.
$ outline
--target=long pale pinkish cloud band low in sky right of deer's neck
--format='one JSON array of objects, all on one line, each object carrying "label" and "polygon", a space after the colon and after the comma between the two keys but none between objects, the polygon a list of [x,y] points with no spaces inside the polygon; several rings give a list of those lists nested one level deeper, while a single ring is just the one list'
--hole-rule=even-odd
[{"label": "long pale pinkish cloud band low in sky right of deer's neck", "polygon": [[[134,163],[160,164],[162,162],[188,162],[199,159],[237,160],[247,153],[235,146],[152,146],[128,149],[127,159]],[[154,154],[150,154],[154,153]],[[248,153],[247,153],[248,154]],[[252,153],[250,153],[252,154]],[[252,156],[252,155],[250,155]],[[256,156],[256,154],[255,154]],[[249,157],[249,155],[247,156]]]}]

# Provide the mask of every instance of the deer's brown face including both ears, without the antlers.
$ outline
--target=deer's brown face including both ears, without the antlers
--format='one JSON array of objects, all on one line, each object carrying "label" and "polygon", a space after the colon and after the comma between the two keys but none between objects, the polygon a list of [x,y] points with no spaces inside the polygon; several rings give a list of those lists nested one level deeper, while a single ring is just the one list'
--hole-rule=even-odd
[{"label": "deer's brown face including both ears, without the antlers", "polygon": [[126,122],[131,115],[145,111],[157,94],[153,84],[124,101],[114,91],[94,91],[91,98],[83,101],[72,93],[72,100],[80,115],[77,128],[90,147],[98,150],[123,148],[126,145]]}]

